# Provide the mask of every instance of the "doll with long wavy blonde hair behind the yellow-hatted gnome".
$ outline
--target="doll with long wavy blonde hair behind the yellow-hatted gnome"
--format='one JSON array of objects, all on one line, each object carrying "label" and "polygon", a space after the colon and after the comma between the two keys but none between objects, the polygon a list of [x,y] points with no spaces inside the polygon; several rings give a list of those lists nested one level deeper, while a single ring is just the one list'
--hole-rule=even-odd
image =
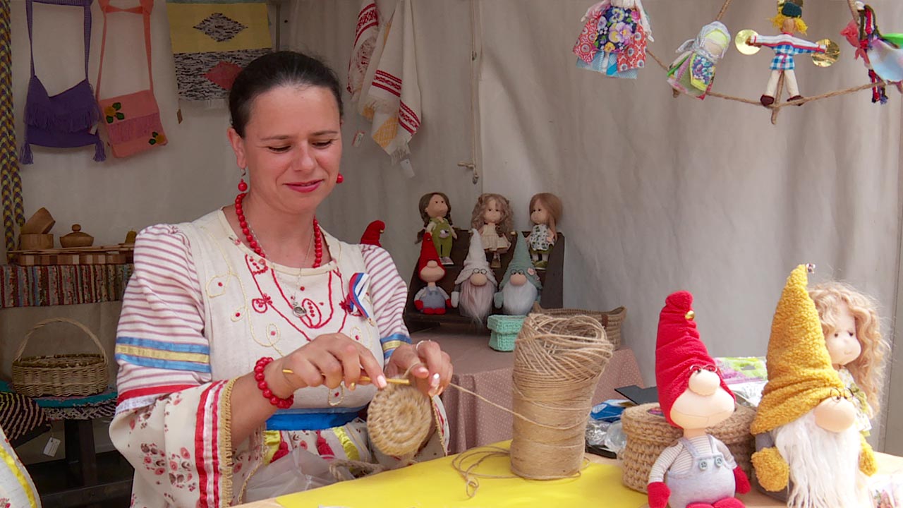
[{"label": "doll with long wavy blonde hair behind the yellow-hatted gnome", "polygon": [[889,350],[881,336],[878,305],[870,296],[834,280],[810,289],[809,296],[818,309],[831,362],[852,393],[856,423],[868,436],[870,419],[880,410],[884,356]]}]

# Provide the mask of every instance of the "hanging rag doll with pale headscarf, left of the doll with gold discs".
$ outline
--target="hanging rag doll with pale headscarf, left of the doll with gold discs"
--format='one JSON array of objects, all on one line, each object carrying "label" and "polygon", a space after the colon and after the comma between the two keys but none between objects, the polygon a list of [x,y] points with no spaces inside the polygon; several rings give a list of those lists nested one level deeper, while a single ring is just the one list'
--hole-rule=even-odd
[{"label": "hanging rag doll with pale headscarf, left of the doll with gold discs", "polygon": [[731,43],[731,32],[720,21],[703,26],[695,39],[684,42],[681,53],[668,69],[668,83],[677,91],[698,99],[712,89],[715,66],[724,58]]}]

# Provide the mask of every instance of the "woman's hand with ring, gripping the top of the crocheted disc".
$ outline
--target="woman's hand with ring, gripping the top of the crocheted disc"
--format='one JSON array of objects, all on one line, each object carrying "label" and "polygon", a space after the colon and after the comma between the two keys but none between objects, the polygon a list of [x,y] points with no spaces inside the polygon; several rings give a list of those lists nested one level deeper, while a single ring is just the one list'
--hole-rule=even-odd
[{"label": "woman's hand with ring, gripping the top of the crocheted disc", "polygon": [[386,376],[401,375],[408,369],[417,389],[430,397],[442,393],[452,382],[452,359],[433,341],[421,341],[415,346],[405,343],[392,352],[386,363]]}]

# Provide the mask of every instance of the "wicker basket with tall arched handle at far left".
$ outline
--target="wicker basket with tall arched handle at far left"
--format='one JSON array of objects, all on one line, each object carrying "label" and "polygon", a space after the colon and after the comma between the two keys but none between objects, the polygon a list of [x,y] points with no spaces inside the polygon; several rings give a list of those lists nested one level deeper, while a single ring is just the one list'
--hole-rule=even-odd
[{"label": "wicker basket with tall arched handle at far left", "polygon": [[[51,323],[68,323],[84,332],[100,354],[76,353],[55,354],[53,356],[28,356],[22,358],[25,345],[32,334]],[[67,397],[70,395],[94,395],[107,390],[107,353],[98,341],[98,336],[87,326],[65,317],[45,319],[34,325],[25,334],[19,351],[13,360],[13,388],[29,397],[52,395]]]}]

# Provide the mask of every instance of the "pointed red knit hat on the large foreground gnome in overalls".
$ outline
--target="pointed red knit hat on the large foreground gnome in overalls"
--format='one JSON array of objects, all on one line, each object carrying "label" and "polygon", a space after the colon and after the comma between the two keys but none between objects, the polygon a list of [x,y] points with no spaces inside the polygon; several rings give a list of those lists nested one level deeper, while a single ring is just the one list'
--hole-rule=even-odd
[{"label": "pointed red knit hat on the large foreground gnome in overalls", "polygon": [[[693,295],[689,291],[678,291],[669,295],[665,306],[658,315],[658,340],[656,343],[656,384],[658,385],[658,404],[665,413],[668,423],[671,420],[671,406],[686,391],[690,383],[690,375],[696,369],[715,370],[715,361],[699,340],[699,331],[693,313]],[[734,396],[724,383],[721,372],[721,388]],[[735,399],[736,400],[736,399]]]}]

